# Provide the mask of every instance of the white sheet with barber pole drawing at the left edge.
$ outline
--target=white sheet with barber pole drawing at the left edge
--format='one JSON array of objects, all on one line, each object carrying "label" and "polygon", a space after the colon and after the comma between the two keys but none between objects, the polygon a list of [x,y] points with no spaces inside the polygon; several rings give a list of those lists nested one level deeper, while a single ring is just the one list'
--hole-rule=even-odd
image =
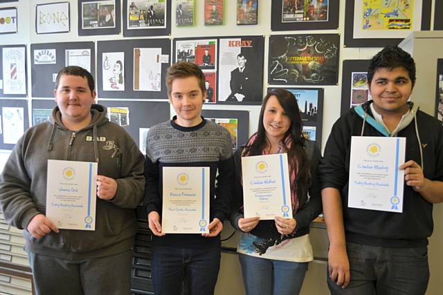
[{"label": "white sheet with barber pole drawing at the left edge", "polygon": [[27,97],[25,45],[0,46],[0,97]]}]

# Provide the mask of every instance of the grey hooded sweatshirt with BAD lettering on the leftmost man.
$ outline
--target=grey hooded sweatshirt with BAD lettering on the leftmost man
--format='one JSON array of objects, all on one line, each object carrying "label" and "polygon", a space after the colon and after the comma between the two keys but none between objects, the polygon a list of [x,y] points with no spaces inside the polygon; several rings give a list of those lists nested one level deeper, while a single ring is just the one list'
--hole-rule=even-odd
[{"label": "grey hooded sweatshirt with BAD lettering on the leftmost man", "polygon": [[[137,231],[134,208],[143,199],[144,158],[132,137],[109,122],[103,106],[93,104],[92,120],[80,131],[66,129],[56,106],[51,122],[28,129],[17,142],[0,175],[0,209],[6,221],[25,229],[26,250],[60,258],[82,259],[127,251]],[[33,238],[26,228],[46,213],[48,160],[98,162],[98,174],[118,184],[112,200],[97,198],[96,230],[60,229]]]}]

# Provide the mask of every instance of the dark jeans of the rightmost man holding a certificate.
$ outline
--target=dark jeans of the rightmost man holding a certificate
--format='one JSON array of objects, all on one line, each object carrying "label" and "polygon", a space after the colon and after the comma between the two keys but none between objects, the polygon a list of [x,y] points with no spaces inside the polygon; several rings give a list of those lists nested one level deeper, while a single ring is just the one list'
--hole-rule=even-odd
[{"label": "dark jeans of the rightmost man holding a certificate", "polygon": [[346,243],[351,280],[342,289],[327,274],[334,294],[424,294],[428,287],[428,247],[388,248]]}]

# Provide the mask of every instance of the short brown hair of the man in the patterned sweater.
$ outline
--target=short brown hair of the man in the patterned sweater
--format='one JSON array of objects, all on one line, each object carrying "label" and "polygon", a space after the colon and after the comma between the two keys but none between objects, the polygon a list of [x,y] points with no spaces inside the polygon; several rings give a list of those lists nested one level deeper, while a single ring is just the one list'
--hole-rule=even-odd
[{"label": "short brown hair of the man in the patterned sweater", "polygon": [[168,94],[172,91],[172,82],[174,79],[196,77],[199,82],[201,93],[205,93],[205,75],[201,69],[192,62],[179,61],[168,68],[166,72],[166,88],[168,88]]}]

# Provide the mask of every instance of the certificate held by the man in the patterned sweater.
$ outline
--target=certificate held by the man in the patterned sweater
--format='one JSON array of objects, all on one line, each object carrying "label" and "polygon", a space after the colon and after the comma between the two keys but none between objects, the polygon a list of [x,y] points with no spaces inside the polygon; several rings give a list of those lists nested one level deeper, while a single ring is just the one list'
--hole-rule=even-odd
[{"label": "certificate held by the man in the patterned sweater", "polygon": [[162,233],[209,233],[209,180],[209,167],[163,167]]}]

